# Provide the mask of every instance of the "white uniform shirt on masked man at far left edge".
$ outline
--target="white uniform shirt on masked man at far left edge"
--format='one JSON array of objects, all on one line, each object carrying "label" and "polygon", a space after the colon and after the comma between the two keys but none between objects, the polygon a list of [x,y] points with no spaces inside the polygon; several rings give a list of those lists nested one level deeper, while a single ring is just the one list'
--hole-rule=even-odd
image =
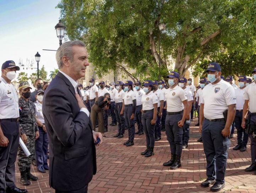
[{"label": "white uniform shirt on masked man at far left edge", "polygon": [[0,119],[20,117],[18,94],[12,84],[0,77]]}]

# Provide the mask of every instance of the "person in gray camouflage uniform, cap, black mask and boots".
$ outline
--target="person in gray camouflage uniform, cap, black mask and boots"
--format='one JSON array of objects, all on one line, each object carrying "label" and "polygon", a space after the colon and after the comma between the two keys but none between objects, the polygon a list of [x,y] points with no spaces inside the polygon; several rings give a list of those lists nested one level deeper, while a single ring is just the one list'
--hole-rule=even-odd
[{"label": "person in gray camouflage uniform, cap, black mask and boots", "polygon": [[21,139],[31,153],[31,155],[27,157],[23,149],[19,146],[18,167],[21,173],[20,183],[24,186],[28,186],[30,184],[28,180],[38,180],[37,177],[30,173],[30,166],[34,155],[35,140],[39,137],[39,131],[36,121],[36,107],[31,100],[28,100],[31,94],[30,89],[32,88],[29,86],[28,82],[21,82],[18,89],[21,95],[19,99]]}]

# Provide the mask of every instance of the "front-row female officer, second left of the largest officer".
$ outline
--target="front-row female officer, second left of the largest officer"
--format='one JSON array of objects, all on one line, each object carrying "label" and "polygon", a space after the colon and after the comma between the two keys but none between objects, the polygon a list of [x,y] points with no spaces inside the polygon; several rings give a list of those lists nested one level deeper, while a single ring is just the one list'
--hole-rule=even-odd
[{"label": "front-row female officer, second left of the largest officer", "polygon": [[146,144],[147,149],[141,152],[146,158],[154,155],[154,144],[155,144],[155,134],[154,125],[156,124],[157,118],[157,104],[158,97],[152,92],[153,82],[145,81],[143,84],[143,91],[145,94],[142,95],[142,117],[141,122],[143,125],[144,132],[146,134]]}]

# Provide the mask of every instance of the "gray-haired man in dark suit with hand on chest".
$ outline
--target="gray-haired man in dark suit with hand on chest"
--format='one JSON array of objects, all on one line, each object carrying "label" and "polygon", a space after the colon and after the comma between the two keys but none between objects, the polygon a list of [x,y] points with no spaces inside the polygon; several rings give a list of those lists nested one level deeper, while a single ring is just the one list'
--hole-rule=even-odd
[{"label": "gray-haired man in dark suit with hand on chest", "polygon": [[49,139],[49,184],[56,193],[86,193],[96,173],[94,142],[102,134],[92,131],[76,82],[85,77],[88,54],[80,40],[65,42],[56,52],[59,72],[43,99]]}]

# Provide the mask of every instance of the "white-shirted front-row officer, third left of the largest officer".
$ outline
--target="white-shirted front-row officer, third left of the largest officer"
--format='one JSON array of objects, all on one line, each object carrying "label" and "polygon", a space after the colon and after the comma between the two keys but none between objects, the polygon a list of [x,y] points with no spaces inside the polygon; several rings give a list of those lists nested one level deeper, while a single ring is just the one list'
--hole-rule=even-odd
[{"label": "white-shirted front-row officer, third left of the largest officer", "polygon": [[124,143],[126,147],[134,145],[134,134],[135,134],[135,111],[136,111],[136,94],[132,89],[132,81],[126,81],[124,84],[124,98],[122,104],[122,110],[120,114],[124,114],[125,125],[128,129],[128,137],[127,142]]}]

